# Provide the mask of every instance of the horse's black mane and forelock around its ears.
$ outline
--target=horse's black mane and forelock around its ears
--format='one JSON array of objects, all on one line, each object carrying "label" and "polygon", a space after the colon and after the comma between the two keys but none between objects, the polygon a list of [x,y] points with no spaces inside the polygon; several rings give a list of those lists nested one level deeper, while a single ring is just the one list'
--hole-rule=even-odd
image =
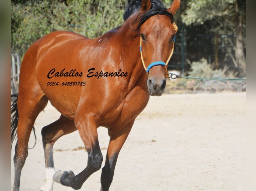
[{"label": "horse's black mane and forelock around its ears", "polygon": [[[140,26],[150,17],[154,15],[166,15],[170,17],[171,22],[173,21],[173,15],[164,8],[162,2],[160,0],[151,0],[151,7],[150,10],[147,11],[142,17],[140,18],[138,27],[135,30],[138,30]],[[140,10],[141,7],[141,0],[128,0],[125,5],[125,11],[123,14],[123,19],[127,20],[133,13]]]}]

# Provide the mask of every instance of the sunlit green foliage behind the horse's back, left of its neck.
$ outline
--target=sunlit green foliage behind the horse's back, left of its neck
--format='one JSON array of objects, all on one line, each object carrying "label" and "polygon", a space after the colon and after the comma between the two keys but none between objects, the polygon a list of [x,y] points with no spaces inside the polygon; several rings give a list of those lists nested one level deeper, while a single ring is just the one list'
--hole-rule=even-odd
[{"label": "sunlit green foliage behind the horse's back, left of its neck", "polygon": [[24,56],[40,37],[57,30],[89,38],[123,24],[126,0],[35,0],[11,2],[11,52]]}]

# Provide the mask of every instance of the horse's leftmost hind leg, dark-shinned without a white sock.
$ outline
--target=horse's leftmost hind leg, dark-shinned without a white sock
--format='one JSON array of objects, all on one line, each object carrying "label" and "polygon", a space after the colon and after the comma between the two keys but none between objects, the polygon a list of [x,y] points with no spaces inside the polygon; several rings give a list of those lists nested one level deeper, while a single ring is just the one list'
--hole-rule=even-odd
[{"label": "horse's leftmost hind leg, dark-shinned without a white sock", "polygon": [[43,94],[18,96],[17,106],[19,119],[17,125],[17,143],[15,146],[14,161],[14,186],[13,190],[18,191],[20,186],[21,170],[28,155],[28,140],[31,130],[38,114],[44,109],[48,99]]}]

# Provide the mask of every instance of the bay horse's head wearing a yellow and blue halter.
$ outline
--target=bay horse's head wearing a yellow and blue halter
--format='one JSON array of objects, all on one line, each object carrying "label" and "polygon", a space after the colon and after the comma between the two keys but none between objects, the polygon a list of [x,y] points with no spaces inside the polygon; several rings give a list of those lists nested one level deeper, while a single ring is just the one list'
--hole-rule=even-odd
[{"label": "bay horse's head wearing a yellow and blue halter", "polygon": [[177,27],[173,15],[180,0],[174,0],[170,8],[151,7],[150,0],[141,2],[140,31],[141,60],[148,73],[147,86],[150,95],[162,95],[166,85],[167,64],[172,54]]}]

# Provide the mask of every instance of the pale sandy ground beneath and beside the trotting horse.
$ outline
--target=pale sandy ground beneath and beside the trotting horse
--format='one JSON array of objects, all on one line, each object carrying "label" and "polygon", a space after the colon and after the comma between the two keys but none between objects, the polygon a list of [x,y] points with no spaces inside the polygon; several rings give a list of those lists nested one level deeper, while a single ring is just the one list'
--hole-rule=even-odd
[{"label": "pale sandy ground beneath and beside the trotting horse", "polygon": [[[58,117],[50,103],[39,114],[35,123],[37,143],[29,149],[21,191],[39,190],[44,183],[40,131]],[[151,96],[119,154],[110,190],[244,191],[245,128],[245,93]],[[98,133],[106,156],[107,129],[99,127]],[[29,146],[33,143],[32,135]],[[55,170],[82,171],[87,153],[81,146],[77,131],[61,137],[54,145]],[[13,153],[14,149],[11,187]],[[90,176],[81,190],[100,190],[100,174],[101,170]],[[54,183],[53,190],[73,189]]]}]

